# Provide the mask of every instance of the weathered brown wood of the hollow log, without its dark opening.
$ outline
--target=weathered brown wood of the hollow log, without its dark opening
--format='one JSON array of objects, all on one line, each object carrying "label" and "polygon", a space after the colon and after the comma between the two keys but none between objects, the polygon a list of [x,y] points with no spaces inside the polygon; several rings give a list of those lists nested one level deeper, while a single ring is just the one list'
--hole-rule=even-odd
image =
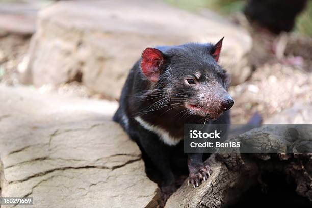
[{"label": "weathered brown wood of the hollow log, without its dark opening", "polygon": [[[232,141],[254,142],[254,148],[267,145],[282,147],[282,129],[258,128],[240,135]],[[261,139],[263,142],[255,142]],[[222,153],[222,152],[220,152]],[[231,205],[249,188],[262,185],[263,173],[279,173],[292,178],[296,193],[312,201],[312,154],[213,154],[208,159],[213,174],[198,188],[187,181],[168,199],[165,207],[224,207]],[[265,186],[265,184],[264,184]]]}]

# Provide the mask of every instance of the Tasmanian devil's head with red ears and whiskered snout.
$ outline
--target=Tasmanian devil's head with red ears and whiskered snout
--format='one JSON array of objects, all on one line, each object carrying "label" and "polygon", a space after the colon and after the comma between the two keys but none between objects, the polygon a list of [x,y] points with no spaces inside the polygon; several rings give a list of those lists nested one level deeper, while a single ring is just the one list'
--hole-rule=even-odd
[{"label": "Tasmanian devil's head with red ears and whiskered snout", "polygon": [[146,48],[142,53],[142,73],[151,89],[161,89],[166,95],[165,105],[217,119],[234,104],[226,91],[229,77],[217,63],[222,40],[215,45],[190,43],[163,52]]}]

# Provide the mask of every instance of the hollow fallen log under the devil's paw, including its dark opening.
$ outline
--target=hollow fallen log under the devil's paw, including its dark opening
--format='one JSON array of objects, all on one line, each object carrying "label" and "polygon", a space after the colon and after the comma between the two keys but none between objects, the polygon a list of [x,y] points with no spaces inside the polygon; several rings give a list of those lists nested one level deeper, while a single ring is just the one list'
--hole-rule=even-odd
[{"label": "hollow fallen log under the devil's paw, including its dark opening", "polygon": [[[310,135],[309,132],[306,134]],[[272,150],[282,144],[295,149],[294,144],[298,141],[284,137],[280,128],[264,130],[261,127],[229,141],[254,142],[254,148],[260,149],[264,148],[258,145],[261,139],[267,144],[266,148],[269,144]],[[207,159],[213,174],[206,182],[193,189],[186,180],[165,207],[311,206],[312,154],[225,152],[222,150]]]}]

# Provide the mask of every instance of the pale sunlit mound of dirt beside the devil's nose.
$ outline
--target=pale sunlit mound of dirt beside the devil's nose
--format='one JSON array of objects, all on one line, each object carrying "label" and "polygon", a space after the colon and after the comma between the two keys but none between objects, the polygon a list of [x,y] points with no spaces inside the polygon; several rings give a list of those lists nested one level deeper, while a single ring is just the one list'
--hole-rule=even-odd
[{"label": "pale sunlit mound of dirt beside the devil's nose", "polygon": [[266,120],[295,102],[312,103],[311,78],[309,72],[280,63],[257,68],[247,82],[229,89],[235,100],[232,122],[246,123],[255,112]]}]

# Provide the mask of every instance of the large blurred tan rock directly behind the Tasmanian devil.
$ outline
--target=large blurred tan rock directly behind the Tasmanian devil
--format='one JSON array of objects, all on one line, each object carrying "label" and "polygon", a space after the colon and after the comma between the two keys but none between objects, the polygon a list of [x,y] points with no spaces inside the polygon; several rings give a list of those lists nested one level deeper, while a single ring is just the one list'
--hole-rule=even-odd
[{"label": "large blurred tan rock directly behind the Tasmanian devil", "polygon": [[[146,47],[225,36],[221,64],[234,83],[250,75],[251,38],[242,29],[161,1],[62,1],[39,12],[24,82],[35,86],[82,81],[119,98],[128,70]],[[25,71],[24,71],[25,70]]]}]

